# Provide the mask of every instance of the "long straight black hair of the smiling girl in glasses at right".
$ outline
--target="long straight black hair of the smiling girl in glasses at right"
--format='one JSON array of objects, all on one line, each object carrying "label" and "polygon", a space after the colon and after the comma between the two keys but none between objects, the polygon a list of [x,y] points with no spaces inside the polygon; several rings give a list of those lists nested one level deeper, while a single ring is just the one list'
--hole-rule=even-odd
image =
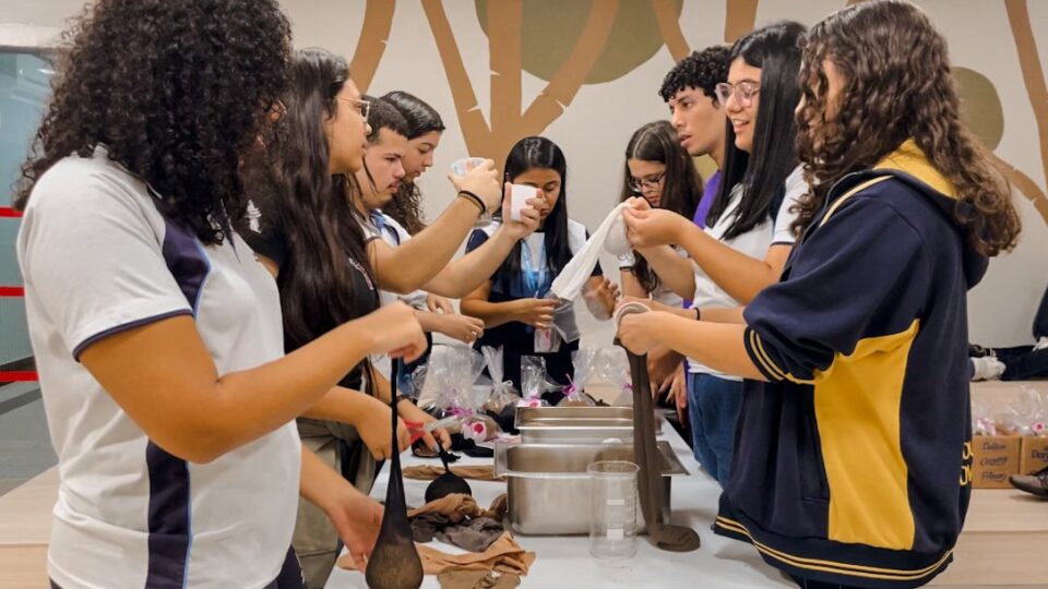
[{"label": "long straight black hair of the smiling girl in glasses at right", "polygon": [[731,47],[729,63],[742,59],[761,69],[760,104],[753,145],[748,155],[735,146],[735,132],[727,122],[725,170],[717,197],[710,207],[707,225],[714,226],[741,184],[742,200],[724,239],[738,237],[769,220],[773,204],[785,195],[785,182],[797,167],[794,110],[800,101],[797,72],[799,43],[805,25],[784,21],[748,33]]}]

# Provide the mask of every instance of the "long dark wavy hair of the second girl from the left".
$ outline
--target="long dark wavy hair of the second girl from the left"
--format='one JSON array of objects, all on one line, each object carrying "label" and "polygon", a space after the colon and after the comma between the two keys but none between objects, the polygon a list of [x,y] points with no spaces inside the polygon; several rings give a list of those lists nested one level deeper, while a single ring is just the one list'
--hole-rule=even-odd
[{"label": "long dark wavy hair of the second girl from the left", "polygon": [[356,318],[354,272],[373,281],[360,216],[348,203],[349,180],[327,168],[323,122],[335,116],[335,96],[348,80],[346,61],[322,49],[296,51],[291,61],[276,207],[289,250],[277,279],[289,350]]}]

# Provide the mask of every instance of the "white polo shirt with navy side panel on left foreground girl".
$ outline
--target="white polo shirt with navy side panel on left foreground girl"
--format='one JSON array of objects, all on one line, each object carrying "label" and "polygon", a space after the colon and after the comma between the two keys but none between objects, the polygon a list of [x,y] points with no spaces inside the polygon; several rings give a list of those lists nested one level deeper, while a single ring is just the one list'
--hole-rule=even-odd
[{"label": "white polo shirt with navy side panel on left foreground girl", "polygon": [[203,245],[98,148],[39,179],[17,253],[61,477],[51,579],[63,589],[271,584],[298,506],[294,422],[190,464],[150,441],[78,361],[99,339],[176,315],[193,317],[219,374],[282,357],[276,285],[248,244],[234,235]]}]

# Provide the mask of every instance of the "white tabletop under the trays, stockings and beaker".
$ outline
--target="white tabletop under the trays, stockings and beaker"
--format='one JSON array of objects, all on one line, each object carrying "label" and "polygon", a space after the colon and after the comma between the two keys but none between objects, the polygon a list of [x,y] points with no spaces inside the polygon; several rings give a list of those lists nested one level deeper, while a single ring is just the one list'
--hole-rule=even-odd
[{"label": "white tabletop under the trays, stockings and beaker", "polygon": [[[665,424],[664,424],[665,425]],[[663,438],[672,446],[680,461],[691,471],[687,477],[675,477],[672,482],[672,522],[691,526],[702,538],[702,548],[695,552],[674,553],[656,549],[647,537],[638,539],[636,555],[621,564],[610,564],[590,556],[587,536],[514,538],[527,551],[537,555],[522,587],[716,587],[717,589],[795,587],[778,570],[761,561],[749,544],[714,536],[710,527],[717,513],[720,488],[708,474],[699,469],[691,450],[672,428],[664,426]],[[438,460],[421,460],[407,453],[402,455],[404,466],[439,464]],[[491,459],[462,457],[455,462],[463,465],[491,464]],[[383,468],[371,495],[385,498],[389,469]],[[428,481],[405,479],[407,504],[425,503],[422,495]],[[469,481],[477,502],[487,507],[495,497],[505,492],[505,483]],[[434,542],[439,550],[458,553],[454,546]],[[335,568],[327,581],[329,589],[366,588],[364,575]],[[427,576],[422,587],[439,587],[437,577]]]}]

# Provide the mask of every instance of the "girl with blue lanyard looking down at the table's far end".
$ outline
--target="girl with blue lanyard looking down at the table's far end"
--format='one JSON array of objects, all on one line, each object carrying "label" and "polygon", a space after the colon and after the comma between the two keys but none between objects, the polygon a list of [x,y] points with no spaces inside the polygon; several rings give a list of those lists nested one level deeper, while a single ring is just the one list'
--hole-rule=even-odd
[{"label": "girl with blue lanyard looking down at the table's far end", "polygon": [[[538,189],[540,225],[513,248],[490,279],[462,299],[462,312],[485,323],[477,346],[502,347],[505,377],[521,387],[521,357],[546,360],[549,377],[569,384],[574,375],[571,354],[579,349],[579,328],[571,303],[559,305],[545,298],[553,279],[586,242],[586,227],[568,218],[568,163],[564,154],[546,137],[526,137],[505,159],[505,177],[514,184]],[[509,199],[507,199],[509,201]],[[466,251],[483,248],[505,223],[504,216],[474,230]],[[610,314],[618,287],[607,280],[600,266],[586,288]]]}]

